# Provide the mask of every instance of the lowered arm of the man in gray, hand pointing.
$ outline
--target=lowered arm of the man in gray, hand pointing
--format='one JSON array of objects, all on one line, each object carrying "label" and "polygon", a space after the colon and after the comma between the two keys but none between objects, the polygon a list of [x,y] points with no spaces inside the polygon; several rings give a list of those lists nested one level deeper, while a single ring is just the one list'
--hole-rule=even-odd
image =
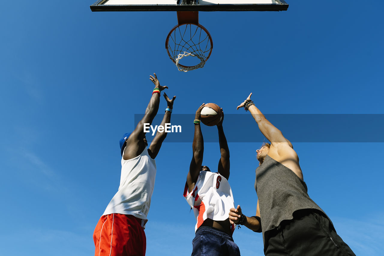
[{"label": "lowered arm of the man in gray, hand pointing", "polygon": [[248,217],[243,215],[241,207],[238,205],[236,209],[231,208],[229,210],[229,221],[231,224],[235,223],[238,225],[244,225],[252,231],[259,233],[262,232],[259,200],[257,200],[256,216]]}]

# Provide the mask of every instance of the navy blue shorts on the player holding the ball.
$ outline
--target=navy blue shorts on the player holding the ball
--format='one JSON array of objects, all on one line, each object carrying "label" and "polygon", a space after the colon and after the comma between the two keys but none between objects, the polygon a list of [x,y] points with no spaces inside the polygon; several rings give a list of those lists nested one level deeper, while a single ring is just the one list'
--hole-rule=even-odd
[{"label": "navy blue shorts on the player holding the ball", "polygon": [[227,233],[209,226],[197,229],[191,256],[240,256],[240,250]]}]

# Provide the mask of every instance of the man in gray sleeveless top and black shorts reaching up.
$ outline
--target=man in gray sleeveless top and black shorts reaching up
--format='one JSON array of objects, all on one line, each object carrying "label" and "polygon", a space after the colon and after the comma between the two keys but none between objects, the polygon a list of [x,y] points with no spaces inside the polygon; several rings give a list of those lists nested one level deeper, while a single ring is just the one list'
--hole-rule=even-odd
[{"label": "man in gray sleeveless top and black shorts reaching up", "polygon": [[252,93],[237,107],[249,111],[271,142],[257,150],[256,216],[232,208],[230,221],[263,233],[265,255],[355,255],[337,235],[332,222],[308,196],[299,158],[291,142],[251,101]]}]

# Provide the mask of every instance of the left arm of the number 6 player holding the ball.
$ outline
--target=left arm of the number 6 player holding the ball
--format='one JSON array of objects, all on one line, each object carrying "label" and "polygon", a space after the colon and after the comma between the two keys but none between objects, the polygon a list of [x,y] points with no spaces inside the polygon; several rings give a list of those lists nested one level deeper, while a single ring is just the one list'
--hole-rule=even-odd
[{"label": "left arm of the number 6 player holding the ball", "polygon": [[[200,120],[200,113],[204,107],[204,103],[197,109],[195,114],[195,120]],[[203,134],[201,133],[200,122],[194,122],[195,125],[195,134],[193,137],[192,143],[192,160],[189,165],[189,172],[187,175],[187,185],[188,190],[191,192],[195,187],[197,178],[199,177],[201,165],[203,163],[203,153],[204,153],[204,140]]]}]

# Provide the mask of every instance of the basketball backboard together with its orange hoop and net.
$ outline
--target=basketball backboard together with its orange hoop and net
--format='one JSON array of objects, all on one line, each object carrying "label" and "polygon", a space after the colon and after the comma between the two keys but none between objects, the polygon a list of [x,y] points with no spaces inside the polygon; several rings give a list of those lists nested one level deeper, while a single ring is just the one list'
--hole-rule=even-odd
[{"label": "basketball backboard together with its orange hoop and net", "polygon": [[[199,12],[214,11],[286,11],[284,0],[98,0],[92,12],[177,13],[177,23],[166,39],[166,50],[179,71],[202,68],[213,48],[212,37],[199,24]],[[189,62],[194,57],[192,62]],[[180,63],[180,61],[183,63]]]}]

